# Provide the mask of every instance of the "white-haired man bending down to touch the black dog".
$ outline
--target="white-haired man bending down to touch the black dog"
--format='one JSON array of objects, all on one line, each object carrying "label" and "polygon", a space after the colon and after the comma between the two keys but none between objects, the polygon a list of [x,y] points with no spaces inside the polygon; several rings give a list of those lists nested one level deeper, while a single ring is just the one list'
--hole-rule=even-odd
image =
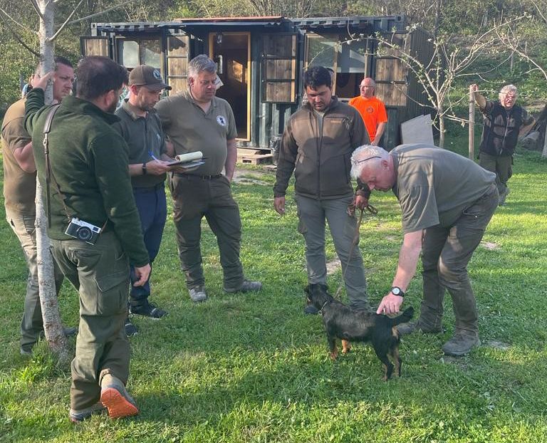
[{"label": "white-haired man bending down to touch the black dog", "polygon": [[498,204],[496,174],[461,155],[432,145],[400,145],[391,152],[363,146],[353,152],[353,177],[368,187],[390,189],[402,209],[404,239],[390,292],[377,313],[399,312],[422,251],[424,294],[420,318],[398,328],[442,333],[444,290],[452,296],[454,335],[442,346],[447,355],[465,355],[479,345],[476,301],[467,263]]}]

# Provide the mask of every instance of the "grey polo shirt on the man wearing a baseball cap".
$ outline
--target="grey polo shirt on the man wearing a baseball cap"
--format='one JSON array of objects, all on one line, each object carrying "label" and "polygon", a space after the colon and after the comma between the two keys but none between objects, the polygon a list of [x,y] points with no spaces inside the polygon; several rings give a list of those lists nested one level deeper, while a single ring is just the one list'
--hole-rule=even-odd
[{"label": "grey polo shirt on the man wearing a baseball cap", "polygon": [[[129,164],[137,165],[152,160],[149,152],[160,158],[167,151],[162,124],[156,111],[151,110],[141,117],[135,113],[135,107],[124,100],[116,110],[120,122],[114,123],[115,130],[120,132],[129,146]],[[153,187],[165,181],[167,174],[135,175],[131,177],[132,187]]]}]

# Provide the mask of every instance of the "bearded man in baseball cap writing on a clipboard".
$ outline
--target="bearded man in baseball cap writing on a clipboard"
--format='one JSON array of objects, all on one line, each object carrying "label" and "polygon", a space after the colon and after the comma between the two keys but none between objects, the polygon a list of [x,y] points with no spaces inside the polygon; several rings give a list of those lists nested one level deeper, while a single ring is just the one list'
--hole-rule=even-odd
[{"label": "bearded man in baseball cap writing on a clipboard", "polygon": [[[113,127],[129,146],[129,173],[133,195],[152,265],[160,250],[167,218],[165,178],[166,172],[171,170],[167,162],[173,160],[154,105],[160,100],[160,92],[164,89],[170,90],[171,87],[163,82],[159,70],[140,65],[129,74],[129,89],[129,98],[123,101],[115,113],[120,122]],[[136,280],[134,268],[131,266],[131,282]],[[131,285],[129,312],[154,319],[165,316],[167,311],[150,303],[149,296],[150,279],[143,286]],[[129,319],[125,321],[125,333],[137,333],[137,328]]]}]

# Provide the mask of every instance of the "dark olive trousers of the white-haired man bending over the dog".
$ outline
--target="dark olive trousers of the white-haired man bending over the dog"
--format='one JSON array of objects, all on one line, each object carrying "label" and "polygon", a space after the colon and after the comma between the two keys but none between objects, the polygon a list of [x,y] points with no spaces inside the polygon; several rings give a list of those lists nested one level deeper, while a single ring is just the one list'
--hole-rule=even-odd
[{"label": "dark olive trousers of the white-haired man bending over the dog", "polygon": [[455,328],[476,333],[476,301],[467,264],[498,206],[498,189],[492,184],[482,197],[462,212],[452,226],[425,229],[422,243],[424,295],[420,323],[439,329],[444,290],[452,297]]}]

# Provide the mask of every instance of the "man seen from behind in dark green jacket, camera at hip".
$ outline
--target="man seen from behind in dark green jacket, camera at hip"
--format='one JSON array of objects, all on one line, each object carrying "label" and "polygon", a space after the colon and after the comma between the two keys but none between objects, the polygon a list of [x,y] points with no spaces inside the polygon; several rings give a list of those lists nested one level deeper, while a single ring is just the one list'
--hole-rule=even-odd
[{"label": "man seen from behind in dark green jacket, camera at hip", "polygon": [[127,71],[105,57],[83,58],[76,68],[76,96],[56,109],[43,108],[51,74],[28,93],[25,125],[43,199],[51,207],[53,255],[80,293],[70,417],[78,422],[104,407],[113,418],[135,415],[138,409],[125,390],[129,262],[135,265],[135,286],[147,281],[150,264],[132,197],[127,144],[111,127],[118,121],[113,112]]}]

